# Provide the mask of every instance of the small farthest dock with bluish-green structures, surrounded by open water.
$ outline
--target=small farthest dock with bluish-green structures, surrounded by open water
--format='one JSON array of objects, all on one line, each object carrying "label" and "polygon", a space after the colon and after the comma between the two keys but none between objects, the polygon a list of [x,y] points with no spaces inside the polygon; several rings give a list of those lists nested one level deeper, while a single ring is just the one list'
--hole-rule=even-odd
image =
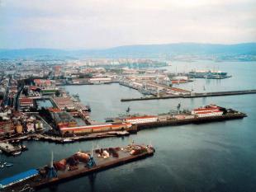
[{"label": "small farthest dock with bluish-green structures, surrounded by open water", "polygon": [[190,78],[207,78],[207,79],[223,79],[232,77],[226,72],[213,71],[213,70],[196,70],[188,73]]}]

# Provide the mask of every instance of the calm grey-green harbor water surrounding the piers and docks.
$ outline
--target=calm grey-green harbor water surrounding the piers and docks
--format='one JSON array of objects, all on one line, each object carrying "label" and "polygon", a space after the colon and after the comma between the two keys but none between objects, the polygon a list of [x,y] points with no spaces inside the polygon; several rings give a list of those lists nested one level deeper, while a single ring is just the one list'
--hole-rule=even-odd
[{"label": "calm grey-green harbor water surrounding the piers and docks", "polygon": [[[219,68],[233,77],[223,80],[196,80],[194,89],[240,90],[255,89],[256,63],[173,63],[167,67],[175,72],[192,68]],[[180,87],[190,88],[189,83]],[[175,110],[179,102],[182,109],[215,103],[249,116],[211,124],[147,129],[126,138],[106,138],[93,141],[100,147],[120,146],[130,143],[152,143],[154,157],[132,162],[94,176],[84,176],[41,191],[256,191],[256,95],[220,96],[194,99],[121,102],[124,97],[140,97],[138,91],[118,84],[95,86],[69,86],[70,93],[78,93],[85,105],[91,105],[92,119],[124,113],[158,114]],[[90,149],[92,142],[59,145],[54,143],[26,142],[29,151],[19,157],[5,157],[2,161],[14,166],[1,169],[0,179],[50,162],[50,152],[55,159],[67,157],[78,149]]]}]

